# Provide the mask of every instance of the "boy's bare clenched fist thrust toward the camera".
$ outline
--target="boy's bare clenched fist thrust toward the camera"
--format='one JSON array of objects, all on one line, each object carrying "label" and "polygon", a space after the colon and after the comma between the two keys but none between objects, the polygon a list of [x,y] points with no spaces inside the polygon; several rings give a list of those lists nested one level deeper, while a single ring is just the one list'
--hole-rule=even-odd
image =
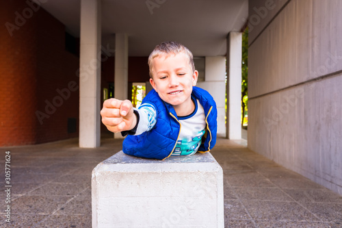
[{"label": "boy's bare clenched fist thrust toward the camera", "polygon": [[129,131],[137,123],[137,116],[133,113],[133,105],[129,100],[120,101],[114,98],[105,100],[101,116],[102,123],[114,133]]}]

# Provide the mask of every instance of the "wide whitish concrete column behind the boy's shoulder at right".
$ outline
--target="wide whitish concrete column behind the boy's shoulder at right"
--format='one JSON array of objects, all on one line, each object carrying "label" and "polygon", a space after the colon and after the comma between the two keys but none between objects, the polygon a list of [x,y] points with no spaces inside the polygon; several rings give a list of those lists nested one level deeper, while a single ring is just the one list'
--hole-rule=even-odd
[{"label": "wide whitish concrete column behind the boy's shoulder at right", "polygon": [[225,126],[225,95],[226,58],[224,56],[205,58],[205,81],[198,81],[197,86],[207,90],[218,108],[218,135],[226,136]]}]

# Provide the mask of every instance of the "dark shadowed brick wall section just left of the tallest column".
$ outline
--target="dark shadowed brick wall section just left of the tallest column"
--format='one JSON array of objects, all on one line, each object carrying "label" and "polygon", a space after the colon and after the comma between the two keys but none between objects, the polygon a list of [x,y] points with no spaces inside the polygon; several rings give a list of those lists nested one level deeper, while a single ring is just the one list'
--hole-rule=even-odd
[{"label": "dark shadowed brick wall section just left of the tallest column", "polygon": [[38,14],[37,38],[37,110],[49,116],[38,120],[37,142],[76,137],[78,128],[68,134],[67,123],[79,119],[79,58],[65,49],[64,25],[44,10]]}]

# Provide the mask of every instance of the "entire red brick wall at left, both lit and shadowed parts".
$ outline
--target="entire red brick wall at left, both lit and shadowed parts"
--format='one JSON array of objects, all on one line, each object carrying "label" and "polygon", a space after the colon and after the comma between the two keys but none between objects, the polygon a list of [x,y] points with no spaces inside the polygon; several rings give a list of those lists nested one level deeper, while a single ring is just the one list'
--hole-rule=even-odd
[{"label": "entire red brick wall at left, both lit and shadowed parts", "polygon": [[[68,134],[67,121],[78,120],[79,58],[65,51],[64,25],[27,1],[3,2],[0,22],[0,147],[77,136]],[[73,91],[61,105],[56,90],[70,81]],[[53,101],[60,107],[47,114]]]}]

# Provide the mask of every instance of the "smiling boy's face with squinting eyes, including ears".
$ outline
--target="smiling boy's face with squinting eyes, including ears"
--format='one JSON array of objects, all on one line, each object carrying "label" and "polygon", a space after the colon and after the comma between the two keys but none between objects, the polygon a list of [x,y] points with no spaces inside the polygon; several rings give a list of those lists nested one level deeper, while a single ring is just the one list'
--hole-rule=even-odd
[{"label": "smiling boy's face with squinting eyes, including ears", "polygon": [[192,86],[196,86],[198,71],[192,72],[185,53],[157,56],[153,59],[152,72],[150,84],[163,101],[175,110],[192,107]]}]

